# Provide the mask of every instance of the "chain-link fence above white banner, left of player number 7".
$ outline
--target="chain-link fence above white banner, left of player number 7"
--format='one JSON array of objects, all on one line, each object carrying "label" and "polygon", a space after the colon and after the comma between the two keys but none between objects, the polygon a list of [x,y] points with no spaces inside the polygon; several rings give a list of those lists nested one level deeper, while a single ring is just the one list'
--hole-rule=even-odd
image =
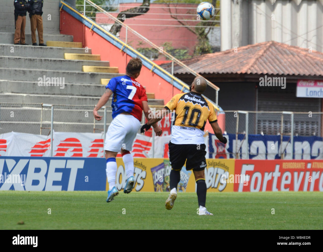
[{"label": "chain-link fence above white banner, left of player number 7", "polygon": [[53,129],[58,132],[102,132],[105,129],[104,120],[107,127],[112,121],[112,110],[107,107],[101,108],[101,121],[94,119],[92,111],[92,105],[1,103],[0,134],[14,131],[49,135],[51,123]]}]

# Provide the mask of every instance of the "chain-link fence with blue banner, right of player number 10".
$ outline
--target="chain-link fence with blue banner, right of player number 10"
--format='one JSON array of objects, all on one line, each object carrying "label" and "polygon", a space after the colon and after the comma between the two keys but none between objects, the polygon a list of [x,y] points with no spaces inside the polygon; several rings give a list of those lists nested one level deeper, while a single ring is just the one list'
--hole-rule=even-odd
[{"label": "chain-link fence with blue banner, right of player number 10", "polygon": [[[322,112],[224,111],[227,151],[236,159],[321,156]],[[315,143],[315,145],[313,145]],[[314,146],[314,147],[313,147]],[[318,152],[318,153],[317,153]]]}]

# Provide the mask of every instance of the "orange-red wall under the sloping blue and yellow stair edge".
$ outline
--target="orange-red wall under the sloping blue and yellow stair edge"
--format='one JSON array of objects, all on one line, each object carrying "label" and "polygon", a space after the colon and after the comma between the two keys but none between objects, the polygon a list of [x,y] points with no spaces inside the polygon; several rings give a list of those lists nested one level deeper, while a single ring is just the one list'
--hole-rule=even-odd
[{"label": "orange-red wall under the sloping blue and yellow stair edge", "polygon": [[[100,54],[101,60],[107,60],[110,62],[110,66],[118,67],[120,73],[126,72],[127,63],[131,59],[129,55],[120,52],[119,48],[97,33],[90,31],[89,27],[83,25],[64,10],[61,10],[60,21],[60,33],[73,35],[74,42],[82,42],[83,47],[92,49],[92,54]],[[181,90],[175,88],[145,66],[142,67],[137,81],[146,87],[147,93],[155,93],[156,99],[163,99],[164,104],[171,100],[175,94],[181,93]],[[205,130],[213,133],[212,127],[208,122]]]}]

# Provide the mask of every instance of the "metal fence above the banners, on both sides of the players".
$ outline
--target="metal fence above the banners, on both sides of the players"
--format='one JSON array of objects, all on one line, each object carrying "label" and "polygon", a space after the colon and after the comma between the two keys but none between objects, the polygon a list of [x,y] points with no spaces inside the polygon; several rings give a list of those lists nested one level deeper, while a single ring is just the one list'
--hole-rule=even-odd
[{"label": "metal fence above the banners, on both sides of the players", "polygon": [[[15,131],[48,135],[51,123],[54,130],[59,132],[102,132],[104,120],[107,126],[112,121],[112,110],[110,107],[102,107],[99,114],[105,116],[105,119],[96,121],[92,115],[93,108],[94,105],[0,103],[0,133]],[[323,112],[228,110],[224,113],[225,132],[235,135],[244,134],[246,139],[248,135],[256,134],[323,135]]]}]

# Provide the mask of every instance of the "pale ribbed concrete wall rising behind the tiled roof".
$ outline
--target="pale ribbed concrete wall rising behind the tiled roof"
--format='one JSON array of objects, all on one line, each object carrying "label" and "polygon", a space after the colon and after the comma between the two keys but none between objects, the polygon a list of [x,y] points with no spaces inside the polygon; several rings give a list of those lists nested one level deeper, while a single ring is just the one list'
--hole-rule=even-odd
[{"label": "pale ribbed concrete wall rising behind the tiled roof", "polygon": [[323,51],[322,0],[221,1],[221,51],[274,40]]}]

